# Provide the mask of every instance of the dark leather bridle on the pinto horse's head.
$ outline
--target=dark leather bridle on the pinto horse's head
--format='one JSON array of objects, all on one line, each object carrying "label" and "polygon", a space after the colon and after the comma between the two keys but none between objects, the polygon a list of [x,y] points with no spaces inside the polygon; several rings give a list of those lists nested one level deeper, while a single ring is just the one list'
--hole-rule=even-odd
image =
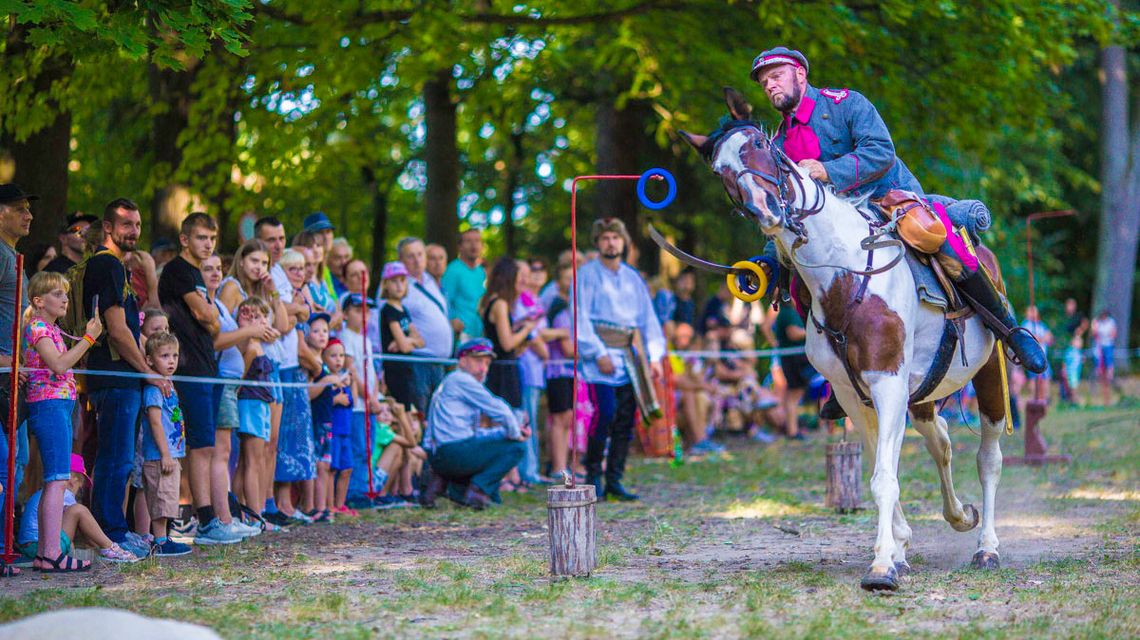
[{"label": "dark leather bridle on the pinto horse's head", "polygon": [[[743,187],[743,180],[747,177],[751,176],[759,178],[763,183],[775,189],[775,193],[773,193],[768,188],[764,188],[764,191],[776,202],[776,214],[780,218],[780,224],[793,233],[797,241],[803,238],[803,242],[807,242],[807,234],[803,224],[804,219],[823,211],[823,208],[826,204],[826,189],[822,188],[822,185],[820,185],[819,181],[813,180],[817,187],[815,189],[815,201],[811,206],[796,206],[795,200],[797,193],[803,195],[805,199],[807,197],[807,188],[804,184],[803,176],[793,169],[791,159],[788,157],[788,155],[780,149],[780,147],[773,145],[767,136],[764,135],[764,130],[754,123],[744,123],[724,130],[712,147],[711,157],[716,157],[720,145],[738,131],[755,131],[760,133],[759,137],[746,133],[749,139],[749,145],[741,148],[740,154],[743,156],[744,152],[752,149],[758,152],[767,151],[769,157],[772,159],[773,172],[769,173],[760,169],[754,169],[748,167],[746,162],[744,168],[736,171],[733,176],[733,184],[736,185],[736,195],[733,195],[732,192],[728,191],[727,186],[725,186],[725,194],[728,196],[728,201],[732,202],[734,211],[744,218],[751,217],[757,220],[760,219],[762,213],[756,209],[756,205],[751,202],[746,202],[740,195],[747,193],[747,189]],[[741,157],[741,161],[743,160],[744,159]]]}]

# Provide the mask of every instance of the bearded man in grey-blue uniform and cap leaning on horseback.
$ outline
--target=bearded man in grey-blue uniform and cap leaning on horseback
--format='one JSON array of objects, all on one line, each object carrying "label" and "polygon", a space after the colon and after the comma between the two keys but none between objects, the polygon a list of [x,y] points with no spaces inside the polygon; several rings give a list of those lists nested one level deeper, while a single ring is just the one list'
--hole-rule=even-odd
[{"label": "bearded man in grey-blue uniform and cap leaning on horseback", "polygon": [[[1043,372],[1045,354],[1041,345],[1031,333],[1018,329],[1012,313],[979,268],[977,257],[953,233],[945,209],[926,202],[918,179],[895,154],[890,132],[874,105],[849,89],[816,89],[807,82],[807,73],[804,54],[787,47],[768,49],[752,62],[751,79],[783,115],[773,144],[812,178],[830,183],[840,194],[866,196],[872,203],[905,200],[913,194],[914,205],[933,211],[947,232],[940,245],[936,245],[935,257],[958,291],[1026,370]],[[821,416],[828,419],[842,415],[834,396],[821,411]]]}]

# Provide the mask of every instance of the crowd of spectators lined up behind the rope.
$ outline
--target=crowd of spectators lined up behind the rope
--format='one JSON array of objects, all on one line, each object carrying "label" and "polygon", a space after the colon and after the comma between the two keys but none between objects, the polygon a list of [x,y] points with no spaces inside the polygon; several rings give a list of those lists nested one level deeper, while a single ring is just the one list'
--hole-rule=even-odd
[{"label": "crowd of spectators lined up behind the rope", "polygon": [[[34,200],[0,185],[0,366],[19,350],[34,370],[16,424],[0,380],[18,461],[11,483],[0,469],[0,489],[16,493],[16,540],[35,570],[89,569],[72,556],[80,541],[129,562],[439,496],[482,509],[564,470],[636,500],[621,470],[633,407],[649,405],[634,403],[622,347],[586,324],[606,314],[641,323],[634,349],[651,356],[689,454],[717,454],[733,435],[771,443],[829,428],[793,306],[743,303],[724,283],[702,305],[691,270],[648,278],[625,262],[633,248],[613,219],[595,225],[587,251],[553,264],[489,260],[478,229],[450,262],[450,248],[405,237],[369,283],[324,213],[300,228],[261,218],[254,237],[219,254],[217,222],[197,212],[177,242],[146,252],[139,208],[117,199],[101,216],[68,216],[58,248],[27,257],[16,300],[15,246]],[[576,258],[588,329],[577,387]],[[1026,327],[1051,343],[1032,311]],[[1107,315],[1090,324],[1074,303],[1062,392],[1075,394],[1086,335],[1110,380],[1115,334]]]}]

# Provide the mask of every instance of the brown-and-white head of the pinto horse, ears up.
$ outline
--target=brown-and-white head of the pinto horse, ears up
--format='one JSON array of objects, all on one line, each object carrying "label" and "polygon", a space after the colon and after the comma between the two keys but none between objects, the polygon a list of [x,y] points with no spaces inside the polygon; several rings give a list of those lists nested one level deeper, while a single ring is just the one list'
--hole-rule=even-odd
[{"label": "brown-and-white head of the pinto horse, ears up", "polygon": [[708,136],[681,131],[681,136],[709,163],[724,183],[733,205],[756,218],[771,234],[790,220],[796,199],[791,178],[798,169],[772,144],[760,124],[752,121],[752,106],[739,91],[726,88],[728,118]]}]

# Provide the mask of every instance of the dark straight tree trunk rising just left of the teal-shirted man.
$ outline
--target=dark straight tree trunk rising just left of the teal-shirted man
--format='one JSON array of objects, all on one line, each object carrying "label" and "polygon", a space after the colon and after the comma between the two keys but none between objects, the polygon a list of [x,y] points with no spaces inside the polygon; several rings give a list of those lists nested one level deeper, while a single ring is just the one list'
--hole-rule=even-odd
[{"label": "dark straight tree trunk rising just left of the teal-shirted man", "polygon": [[456,146],[455,103],[451,102],[451,70],[440,70],[424,82],[427,138],[427,193],[424,194],[424,238],[455,251],[459,244],[459,149]]}]

